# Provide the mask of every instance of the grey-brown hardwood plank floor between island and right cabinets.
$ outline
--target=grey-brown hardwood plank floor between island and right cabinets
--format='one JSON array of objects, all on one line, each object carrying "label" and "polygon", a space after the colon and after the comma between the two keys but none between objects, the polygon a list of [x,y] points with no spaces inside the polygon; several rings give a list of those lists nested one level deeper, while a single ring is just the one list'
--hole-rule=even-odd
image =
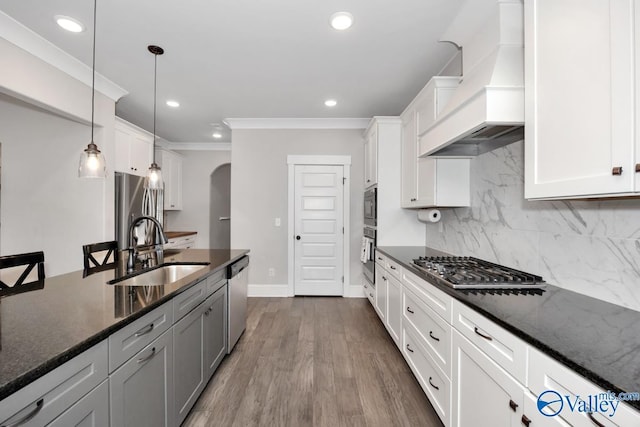
[{"label": "grey-brown hardwood plank floor between island and right cabinets", "polygon": [[364,298],[249,298],[184,426],[442,426]]}]

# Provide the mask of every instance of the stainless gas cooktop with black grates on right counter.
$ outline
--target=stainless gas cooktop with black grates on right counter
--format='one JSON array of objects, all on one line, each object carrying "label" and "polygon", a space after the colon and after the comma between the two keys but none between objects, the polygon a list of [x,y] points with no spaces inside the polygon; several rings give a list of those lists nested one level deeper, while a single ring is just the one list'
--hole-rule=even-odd
[{"label": "stainless gas cooktop with black grates on right counter", "polygon": [[456,289],[540,289],[542,277],[473,257],[420,257],[413,264]]}]

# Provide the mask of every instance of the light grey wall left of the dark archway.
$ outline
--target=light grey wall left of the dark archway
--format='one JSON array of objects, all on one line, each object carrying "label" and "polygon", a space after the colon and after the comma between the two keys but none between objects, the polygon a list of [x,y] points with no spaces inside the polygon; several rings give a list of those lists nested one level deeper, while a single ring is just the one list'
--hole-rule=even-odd
[{"label": "light grey wall left of the dark archway", "polygon": [[182,157],[182,210],[166,211],[167,231],[196,231],[196,248],[209,247],[211,173],[231,161],[230,151],[177,151]]}]

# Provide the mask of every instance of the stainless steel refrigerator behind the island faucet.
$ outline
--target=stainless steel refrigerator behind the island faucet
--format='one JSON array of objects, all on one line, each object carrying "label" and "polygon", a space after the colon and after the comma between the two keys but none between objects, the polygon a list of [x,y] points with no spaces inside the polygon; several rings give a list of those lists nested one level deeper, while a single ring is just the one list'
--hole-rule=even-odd
[{"label": "stainless steel refrigerator behind the island faucet", "polygon": [[[128,173],[115,173],[116,193],[116,240],[118,249],[129,245],[129,225],[143,215],[155,217],[163,222],[164,191],[144,188],[144,177]],[[150,221],[142,221],[134,230],[138,245],[160,243],[160,236]]]}]

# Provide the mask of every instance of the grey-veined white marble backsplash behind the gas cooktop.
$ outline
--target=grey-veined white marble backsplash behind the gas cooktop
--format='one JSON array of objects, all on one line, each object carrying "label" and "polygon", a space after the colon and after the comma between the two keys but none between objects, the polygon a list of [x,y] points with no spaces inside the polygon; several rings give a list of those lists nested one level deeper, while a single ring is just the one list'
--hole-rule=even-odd
[{"label": "grey-veined white marble backsplash behind the gas cooktop", "polygon": [[471,207],[426,228],[435,249],[640,311],[640,200],[527,201],[522,142],[472,160]]}]

